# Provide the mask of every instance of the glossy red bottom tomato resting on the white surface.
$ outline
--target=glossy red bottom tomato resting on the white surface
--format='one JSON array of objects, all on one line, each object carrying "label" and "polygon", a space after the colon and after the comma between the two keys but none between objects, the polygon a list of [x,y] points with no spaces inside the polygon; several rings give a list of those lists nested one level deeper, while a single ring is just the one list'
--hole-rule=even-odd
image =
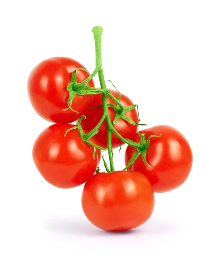
[{"label": "glossy red bottom tomato resting on the white surface", "polygon": [[81,202],[84,214],[96,227],[124,231],[150,218],[154,192],[149,180],[139,172],[102,172],[85,183]]}]

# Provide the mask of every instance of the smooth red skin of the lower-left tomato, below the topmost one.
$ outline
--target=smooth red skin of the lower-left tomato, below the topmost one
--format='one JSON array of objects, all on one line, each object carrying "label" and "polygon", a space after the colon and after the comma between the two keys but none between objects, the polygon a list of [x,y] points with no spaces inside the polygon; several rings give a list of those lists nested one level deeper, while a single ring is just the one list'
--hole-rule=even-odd
[{"label": "smooth red skin of the lower-left tomato, below the topmost one", "polygon": [[[100,162],[97,149],[93,159],[93,146],[85,143],[78,129],[65,132],[75,125],[55,124],[46,128],[35,140],[32,156],[46,181],[58,188],[73,188],[86,182]],[[98,142],[91,139],[93,143]]]}]

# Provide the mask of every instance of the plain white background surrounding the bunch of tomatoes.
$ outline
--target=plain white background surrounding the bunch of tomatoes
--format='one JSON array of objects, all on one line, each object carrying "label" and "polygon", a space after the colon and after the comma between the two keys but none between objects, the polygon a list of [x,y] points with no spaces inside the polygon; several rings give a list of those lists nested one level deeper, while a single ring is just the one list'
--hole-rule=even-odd
[{"label": "plain white background surrounding the bunch of tomatoes", "polygon": [[[156,194],[150,220],[124,233],[90,224],[83,186],[49,185],[32,160],[50,124],[29,103],[29,72],[53,56],[93,71],[95,25],[105,78],[139,104],[142,122],[179,129],[194,154],[185,184]],[[0,255],[217,255],[217,2],[8,0],[0,26]]]}]

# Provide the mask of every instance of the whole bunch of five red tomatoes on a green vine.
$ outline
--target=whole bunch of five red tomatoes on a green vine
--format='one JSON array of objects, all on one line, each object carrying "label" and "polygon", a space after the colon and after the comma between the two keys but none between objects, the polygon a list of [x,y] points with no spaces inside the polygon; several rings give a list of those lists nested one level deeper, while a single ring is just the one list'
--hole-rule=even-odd
[{"label": "whole bunch of five red tomatoes on a green vine", "polygon": [[[95,70],[65,57],[39,63],[28,79],[35,111],[55,124],[33,146],[38,171],[53,186],[83,183],[84,214],[96,227],[123,231],[139,227],[154,208],[154,192],[182,185],[192,166],[192,151],[175,128],[158,125],[139,131],[138,106],[124,94],[108,89],[101,60],[102,28],[93,28]],[[98,74],[101,87],[95,88]],[[75,122],[76,124],[71,124]],[[126,143],[125,167],[115,170],[113,148]],[[101,151],[108,152],[106,172],[98,168]],[[94,174],[95,173],[95,174]]]}]

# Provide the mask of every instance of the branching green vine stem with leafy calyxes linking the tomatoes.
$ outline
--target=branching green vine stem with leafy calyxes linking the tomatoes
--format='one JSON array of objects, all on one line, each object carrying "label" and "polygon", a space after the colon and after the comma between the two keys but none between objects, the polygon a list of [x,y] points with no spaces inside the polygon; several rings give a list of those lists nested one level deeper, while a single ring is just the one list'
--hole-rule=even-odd
[{"label": "branching green vine stem with leafy calyxes linking the tomatoes", "polygon": [[[130,122],[133,125],[138,125],[138,123],[134,122],[133,120],[131,120],[127,116],[125,116],[125,113],[132,110],[133,108],[136,108],[137,105],[132,105],[132,106],[129,106],[129,107],[123,107],[123,105],[120,102],[121,93],[119,93],[119,97],[118,97],[118,99],[116,99],[112,95],[112,93],[110,93],[110,91],[107,89],[105,79],[104,79],[103,68],[102,68],[102,55],[101,55],[101,36],[102,36],[103,29],[100,26],[95,26],[92,31],[93,31],[93,35],[94,35],[94,41],[95,41],[95,70],[93,71],[93,73],[91,75],[89,74],[89,77],[87,79],[85,79],[82,83],[77,83],[76,70],[72,73],[71,83],[69,83],[68,86],[67,86],[67,90],[69,91],[69,108],[71,109],[72,99],[75,97],[76,94],[85,95],[85,94],[101,93],[102,94],[102,105],[98,106],[96,108],[102,107],[103,108],[103,115],[102,115],[100,121],[98,122],[98,124],[95,126],[95,128],[93,128],[93,130],[88,132],[87,134],[84,134],[84,132],[82,130],[82,127],[81,127],[81,119],[82,118],[86,119],[86,116],[80,116],[79,119],[78,119],[78,126],[76,126],[74,128],[71,128],[69,130],[78,128],[79,134],[80,134],[81,138],[84,140],[84,142],[86,142],[86,143],[88,143],[88,144],[90,144],[94,147],[94,155],[95,155],[96,148],[99,148],[101,150],[105,150],[105,149],[101,148],[98,145],[95,145],[95,144],[91,143],[90,139],[95,134],[98,133],[98,129],[100,128],[101,124],[104,122],[104,120],[106,120],[106,122],[107,122],[107,149],[108,149],[108,155],[109,155],[110,170],[108,169],[104,158],[103,158],[103,162],[104,162],[104,166],[105,166],[107,172],[114,172],[115,171],[114,165],[113,165],[112,133],[114,133],[117,137],[119,137],[119,139],[122,142],[124,142],[124,143],[126,143],[130,146],[133,146],[134,148],[137,149],[136,154],[130,159],[127,167],[124,168],[124,170],[126,170],[137,159],[137,157],[139,157],[140,154],[142,154],[144,162],[148,165],[148,163],[145,159],[146,151],[147,151],[147,148],[150,144],[150,138],[155,137],[155,136],[150,136],[148,138],[148,141],[146,142],[145,141],[145,135],[142,134],[140,143],[136,143],[132,140],[129,140],[129,139],[126,139],[126,138],[122,137],[119,134],[119,132],[116,131],[116,129],[114,128],[113,125],[114,125],[115,122],[117,122],[117,120],[119,118],[125,119],[127,122]],[[98,73],[98,78],[99,78],[101,89],[90,88],[90,87],[86,86],[86,84],[91,79],[93,79],[93,77],[97,73]],[[107,104],[107,97],[110,97],[110,99],[112,99],[117,105],[112,105],[112,106],[108,105]],[[111,119],[110,119],[110,116],[109,116],[108,106],[113,107],[116,110],[116,119],[115,119],[116,121],[113,122],[113,123],[111,122]],[[138,110],[138,106],[137,106],[137,110]],[[139,125],[143,125],[143,124],[139,124]],[[66,134],[65,134],[65,136],[66,136]],[[156,137],[158,137],[158,136],[156,136]],[[121,144],[122,144],[122,142],[121,142]],[[97,172],[99,172],[99,169],[97,170]]]}]

